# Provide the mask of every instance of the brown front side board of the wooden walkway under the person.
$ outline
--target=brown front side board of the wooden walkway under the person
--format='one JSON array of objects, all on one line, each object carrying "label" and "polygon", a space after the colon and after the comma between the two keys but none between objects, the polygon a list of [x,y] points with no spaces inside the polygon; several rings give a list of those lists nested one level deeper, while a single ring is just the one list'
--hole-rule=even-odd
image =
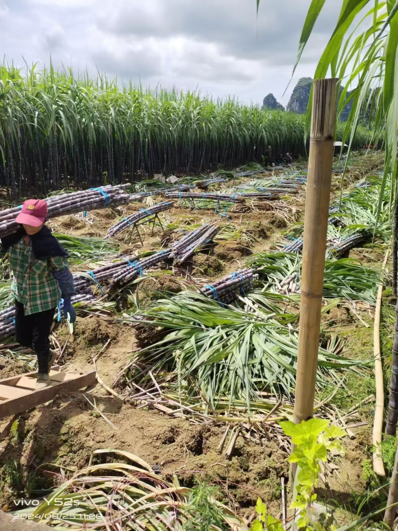
[{"label": "brown front side board of the wooden walkway under the person", "polygon": [[[25,374],[24,376],[27,375]],[[21,378],[21,376],[19,376],[18,378]],[[67,380],[59,383],[54,382],[53,384],[48,387],[45,387],[44,389],[31,391],[29,395],[6,400],[0,403],[0,418],[16,415],[18,413],[22,413],[23,411],[27,411],[32,407],[39,406],[40,404],[45,404],[45,402],[52,400],[61,389],[64,389],[66,391],[78,391],[83,387],[92,386],[94,383],[96,383],[96,381],[96,371],[91,371],[76,376],[76,378],[74,378],[73,380]]]}]

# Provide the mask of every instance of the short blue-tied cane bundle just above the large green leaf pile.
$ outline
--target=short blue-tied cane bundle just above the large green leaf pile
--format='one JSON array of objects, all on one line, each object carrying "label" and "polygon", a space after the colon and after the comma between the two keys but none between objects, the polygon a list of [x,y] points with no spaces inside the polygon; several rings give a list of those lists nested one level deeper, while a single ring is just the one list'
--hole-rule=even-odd
[{"label": "short blue-tied cane bundle just above the large green leaf pile", "polygon": [[222,304],[231,304],[238,298],[239,293],[245,296],[246,292],[253,288],[257,278],[258,275],[253,275],[253,269],[240,269],[228,277],[213,282],[212,285],[204,286],[202,292],[206,297]]}]

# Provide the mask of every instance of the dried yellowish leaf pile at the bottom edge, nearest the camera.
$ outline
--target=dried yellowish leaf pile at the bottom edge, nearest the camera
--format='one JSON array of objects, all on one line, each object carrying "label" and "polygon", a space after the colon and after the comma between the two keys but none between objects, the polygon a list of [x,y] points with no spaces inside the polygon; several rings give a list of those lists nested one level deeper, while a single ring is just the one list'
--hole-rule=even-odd
[{"label": "dried yellowish leaf pile at the bottom edge, nearest the camera", "polygon": [[[94,464],[95,460],[110,462]],[[115,461],[118,459],[118,461]],[[95,450],[88,466],[67,479],[37,507],[15,511],[29,513],[31,521],[56,529],[109,531],[148,529],[183,531],[192,517],[191,490],[155,474],[139,457],[121,450]],[[65,503],[59,503],[62,500]],[[68,503],[69,502],[69,503]],[[210,498],[225,529],[247,529],[228,507]],[[211,525],[209,531],[219,531]]]}]

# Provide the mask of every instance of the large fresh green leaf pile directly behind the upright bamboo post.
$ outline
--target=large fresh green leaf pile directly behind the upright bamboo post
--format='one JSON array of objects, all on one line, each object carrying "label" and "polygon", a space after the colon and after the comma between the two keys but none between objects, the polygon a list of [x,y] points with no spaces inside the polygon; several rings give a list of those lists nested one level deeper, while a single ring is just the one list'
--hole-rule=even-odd
[{"label": "large fresh green leaf pile directly behind the upright bamboo post", "polygon": [[[283,310],[279,309],[281,319]],[[279,314],[263,310],[250,314],[222,307],[190,292],[164,298],[140,311],[142,322],[169,333],[135,354],[161,373],[172,372],[180,392],[250,400],[259,391],[290,396],[295,389],[298,332],[279,322]],[[317,385],[338,381],[337,370],[360,362],[319,348]],[[140,379],[145,384],[146,376]]]}]

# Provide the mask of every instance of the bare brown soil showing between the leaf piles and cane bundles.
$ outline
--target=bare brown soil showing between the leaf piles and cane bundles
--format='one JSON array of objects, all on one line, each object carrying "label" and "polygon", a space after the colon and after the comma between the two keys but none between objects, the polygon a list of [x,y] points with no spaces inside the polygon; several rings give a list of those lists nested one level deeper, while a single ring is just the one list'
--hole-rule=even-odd
[{"label": "bare brown soil showing between the leaf piles and cane bundles", "polygon": [[[363,172],[359,174],[360,178]],[[245,258],[255,252],[275,249],[281,240],[283,230],[292,222],[302,219],[304,198],[300,195],[291,201],[292,209],[283,211],[228,212],[229,220],[247,233],[248,239],[223,242],[218,240],[211,254],[198,253],[194,256],[191,275],[203,280],[216,280],[244,264]],[[130,204],[121,212],[131,213],[142,204]],[[105,236],[116,215],[109,209],[91,212],[94,222],[88,224],[73,216],[57,218],[50,226],[57,232],[76,236]],[[144,249],[159,249],[167,238],[176,236],[167,226],[174,220],[201,224],[219,221],[220,216],[211,210],[175,208],[160,216],[166,227],[166,235],[160,226],[154,233],[142,229]],[[185,221],[184,221],[185,220]],[[223,220],[223,222],[226,222]],[[141,251],[139,238],[125,243],[124,234],[117,237],[126,252]],[[378,255],[366,250],[372,260]],[[355,251],[356,258],[365,255],[363,250]],[[369,256],[364,260],[369,261]],[[375,258],[377,257],[377,258]],[[164,277],[164,278],[163,278]],[[184,276],[157,277],[156,281],[144,280],[139,285],[141,304],[149,304],[159,298],[162,292],[177,293],[184,287]],[[181,284],[182,283],[182,284]],[[333,309],[324,316],[324,322],[333,321],[335,333],[349,325],[352,337],[362,333],[363,325],[347,310]],[[57,331],[60,346],[65,345],[66,328]],[[112,318],[89,316],[79,319],[75,332],[68,339],[62,370],[84,373],[93,369],[93,357],[109,341],[97,360],[98,374],[112,386],[120,371],[126,366],[136,346],[134,331],[129,324]],[[352,343],[345,353],[352,355]],[[23,372],[23,364],[0,360],[0,378]],[[103,418],[89,404],[87,397],[95,403]],[[359,413],[359,421],[367,421],[368,412]],[[60,392],[54,400],[29,410],[15,418],[0,422],[0,432],[12,424],[11,432],[0,440],[0,485],[2,507],[12,507],[15,495],[34,497],[39,489],[58,484],[63,474],[88,463],[90,452],[97,448],[127,450],[144,459],[151,466],[158,465],[161,474],[177,474],[181,484],[193,486],[197,481],[217,484],[222,488],[224,501],[228,501],[241,515],[253,513],[257,497],[269,504],[274,516],[281,511],[281,478],[288,478],[287,451],[278,441],[265,441],[262,445],[247,441],[239,436],[229,459],[224,447],[219,450],[225,426],[193,424],[185,418],[175,418],[155,409],[141,408],[140,404],[127,403],[110,396],[97,386],[81,392]],[[336,474],[328,477],[330,486],[320,487],[320,495],[333,498],[340,504],[350,499],[351,492],[365,489],[366,479],[362,462],[367,457],[371,444],[371,426],[353,429],[357,439],[347,443],[347,453],[336,459]],[[48,465],[53,464],[53,465]],[[11,529],[11,528],[10,528]]]}]

